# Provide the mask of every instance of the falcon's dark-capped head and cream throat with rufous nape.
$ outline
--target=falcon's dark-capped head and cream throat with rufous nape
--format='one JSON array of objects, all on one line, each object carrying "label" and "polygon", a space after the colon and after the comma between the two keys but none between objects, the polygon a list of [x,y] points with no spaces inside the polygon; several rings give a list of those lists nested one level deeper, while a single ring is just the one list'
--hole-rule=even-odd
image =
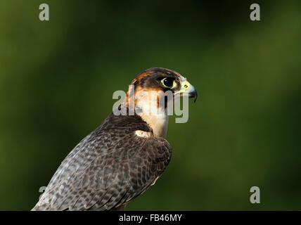
[{"label": "falcon's dark-capped head and cream throat with rufous nape", "polygon": [[[156,136],[166,136],[168,110],[179,98],[197,99],[197,92],[185,77],[165,68],[150,68],[139,74],[129,86],[124,100],[127,108],[134,108],[153,129]],[[171,103],[171,104],[169,104]]]}]

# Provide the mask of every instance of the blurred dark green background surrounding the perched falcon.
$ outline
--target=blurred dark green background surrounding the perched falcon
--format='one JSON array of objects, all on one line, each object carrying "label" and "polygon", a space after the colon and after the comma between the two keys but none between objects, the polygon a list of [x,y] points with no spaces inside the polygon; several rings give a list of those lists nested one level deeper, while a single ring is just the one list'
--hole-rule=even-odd
[{"label": "blurred dark green background surrounding the perched falcon", "polygon": [[169,120],[172,161],[127,210],[301,210],[301,2],[255,2],[260,22],[252,1],[2,0],[0,210],[34,207],[113,92],[151,67],[199,97],[187,123]]}]

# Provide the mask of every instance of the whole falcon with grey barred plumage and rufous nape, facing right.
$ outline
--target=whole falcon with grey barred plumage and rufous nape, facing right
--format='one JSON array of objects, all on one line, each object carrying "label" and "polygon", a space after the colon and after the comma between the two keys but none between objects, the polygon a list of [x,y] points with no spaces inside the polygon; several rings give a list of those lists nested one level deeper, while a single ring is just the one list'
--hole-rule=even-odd
[{"label": "whole falcon with grey barred plumage and rufous nape, facing right", "polygon": [[[127,115],[110,113],[82,139],[32,210],[124,210],[164,172],[172,156],[165,139],[169,116],[146,113],[148,98],[134,96],[138,91],[172,91],[173,96],[196,101],[196,89],[178,72],[165,68],[144,70],[132,86],[134,94],[128,90],[119,106],[125,105]],[[128,115],[131,99],[139,108],[134,115]]]}]

